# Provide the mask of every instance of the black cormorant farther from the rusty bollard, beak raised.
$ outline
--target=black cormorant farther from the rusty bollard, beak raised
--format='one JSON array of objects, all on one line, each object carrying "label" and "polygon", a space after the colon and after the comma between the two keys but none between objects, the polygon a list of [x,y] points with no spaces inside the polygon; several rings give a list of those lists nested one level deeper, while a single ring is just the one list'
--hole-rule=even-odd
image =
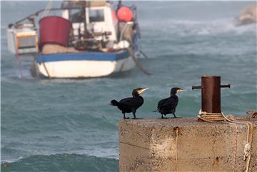
[{"label": "black cormorant farther from the rusty bollard, beak raised", "polygon": [[140,96],[143,91],[148,88],[136,88],[132,91],[133,97],[123,98],[121,101],[112,100],[111,105],[117,106],[119,110],[124,114],[124,119],[126,119],[125,113],[133,113],[133,119],[136,119],[136,109],[138,109],[143,104],[143,97]]}]

